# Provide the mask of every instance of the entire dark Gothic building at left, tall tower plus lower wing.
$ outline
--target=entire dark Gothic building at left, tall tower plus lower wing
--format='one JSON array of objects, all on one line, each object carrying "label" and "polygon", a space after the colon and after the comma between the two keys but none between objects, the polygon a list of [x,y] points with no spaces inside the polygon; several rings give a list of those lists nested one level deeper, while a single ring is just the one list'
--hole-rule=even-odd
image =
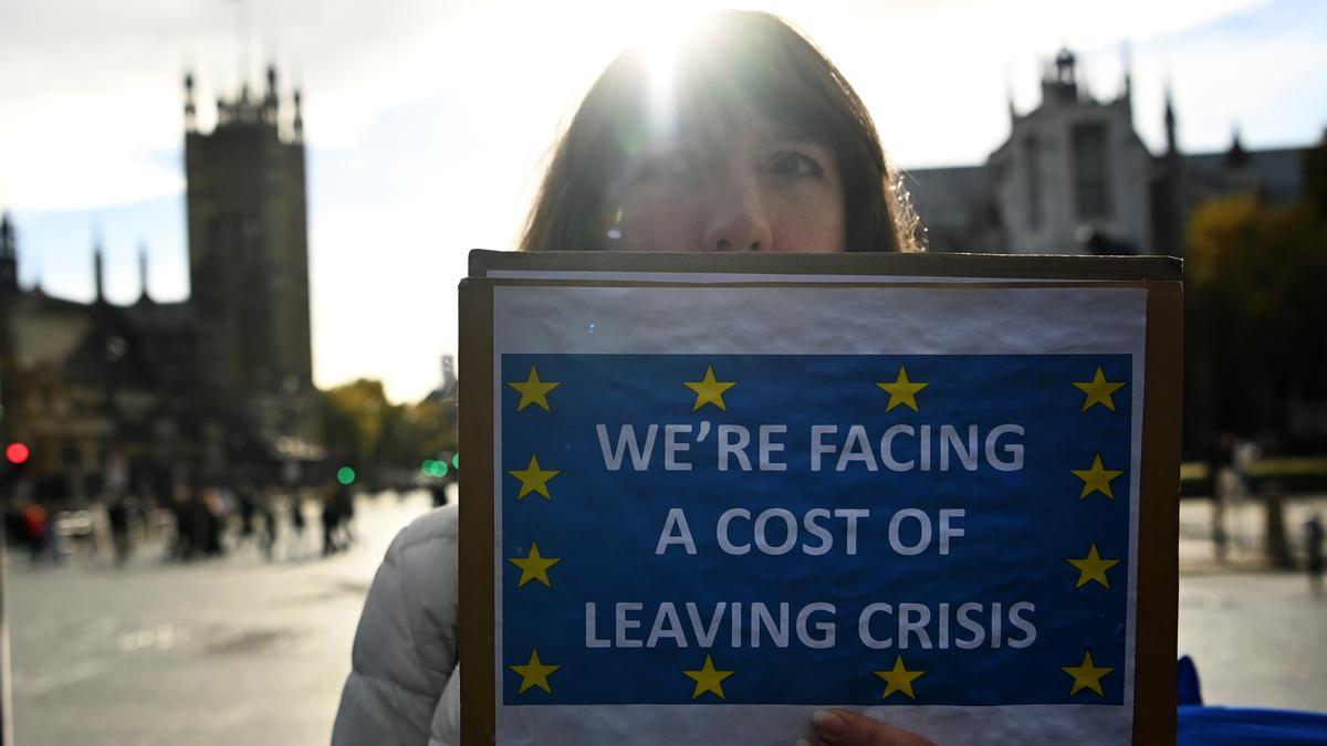
[{"label": "entire dark Gothic building at left, tall tower plus lower wing", "polygon": [[[218,100],[199,131],[186,76],[184,167],[191,297],[114,305],[94,247],[90,304],[21,288],[17,239],[0,223],[0,441],[32,449],[28,471],[78,498],[109,463],[135,487],[261,479],[318,455],[309,341],[300,94]],[[58,491],[58,490],[57,490]]]}]

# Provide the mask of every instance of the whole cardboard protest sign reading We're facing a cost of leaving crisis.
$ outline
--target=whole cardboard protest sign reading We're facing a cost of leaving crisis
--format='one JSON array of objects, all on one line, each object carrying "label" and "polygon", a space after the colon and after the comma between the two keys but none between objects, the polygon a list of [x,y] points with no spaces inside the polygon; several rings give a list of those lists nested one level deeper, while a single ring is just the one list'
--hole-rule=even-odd
[{"label": "whole cardboard protest sign reading We're facing a cost of leaving crisis", "polygon": [[1173,265],[707,259],[463,285],[466,742],[1173,738]]}]

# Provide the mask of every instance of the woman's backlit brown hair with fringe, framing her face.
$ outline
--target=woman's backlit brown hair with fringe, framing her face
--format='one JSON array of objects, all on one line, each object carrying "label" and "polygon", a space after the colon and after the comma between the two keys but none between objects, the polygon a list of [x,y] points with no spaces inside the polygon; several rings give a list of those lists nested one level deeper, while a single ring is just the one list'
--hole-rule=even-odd
[{"label": "woman's backlit brown hair with fringe, framing her face", "polygon": [[[605,248],[614,215],[605,187],[650,126],[648,60],[620,54],[581,102],[529,212],[522,251]],[[885,158],[874,122],[843,74],[778,16],[723,11],[678,53],[677,118],[731,115],[746,101],[833,149],[843,178],[849,251],[920,251],[917,216]]]}]

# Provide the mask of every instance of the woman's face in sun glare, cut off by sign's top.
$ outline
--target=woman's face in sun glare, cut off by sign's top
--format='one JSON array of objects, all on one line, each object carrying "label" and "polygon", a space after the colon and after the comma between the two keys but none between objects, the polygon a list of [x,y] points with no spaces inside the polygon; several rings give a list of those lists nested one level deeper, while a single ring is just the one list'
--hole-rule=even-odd
[{"label": "woman's face in sun glare, cut off by sign's top", "polygon": [[833,150],[751,106],[628,158],[604,196],[614,251],[844,251]]}]

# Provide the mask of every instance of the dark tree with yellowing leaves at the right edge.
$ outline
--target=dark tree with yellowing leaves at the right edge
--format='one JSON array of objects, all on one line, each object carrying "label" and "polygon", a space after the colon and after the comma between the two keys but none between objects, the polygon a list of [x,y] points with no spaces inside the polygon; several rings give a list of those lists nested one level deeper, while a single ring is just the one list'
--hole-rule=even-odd
[{"label": "dark tree with yellowing leaves at the right edge", "polygon": [[1327,439],[1323,423],[1295,417],[1327,406],[1327,220],[1312,192],[1327,183],[1315,175],[1327,163],[1324,147],[1306,154],[1310,188],[1296,204],[1243,194],[1210,200],[1190,219],[1190,439],[1196,430]]}]

